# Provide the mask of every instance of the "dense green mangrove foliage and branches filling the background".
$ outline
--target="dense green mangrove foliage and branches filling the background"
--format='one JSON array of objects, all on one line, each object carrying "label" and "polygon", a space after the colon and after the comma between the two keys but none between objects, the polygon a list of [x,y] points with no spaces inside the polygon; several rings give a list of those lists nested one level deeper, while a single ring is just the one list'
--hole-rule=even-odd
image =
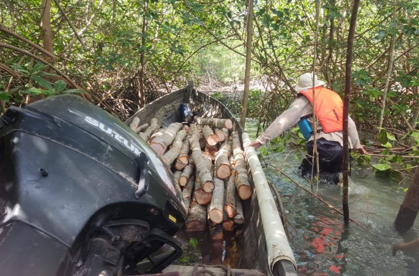
[{"label": "dense green mangrove foliage and branches filling the background", "polygon": [[[253,93],[258,98],[250,115],[266,125],[287,108],[296,78],[312,70],[313,59],[327,85],[344,91],[351,4],[254,1],[252,78],[263,80],[265,89]],[[1,112],[79,93],[126,119],[186,80],[240,84],[246,6],[243,0],[3,0]],[[397,144],[418,154],[418,18],[419,0],[365,0],[359,9],[351,114],[360,130],[381,132],[378,141],[389,157],[380,171],[405,162],[391,151]]]}]

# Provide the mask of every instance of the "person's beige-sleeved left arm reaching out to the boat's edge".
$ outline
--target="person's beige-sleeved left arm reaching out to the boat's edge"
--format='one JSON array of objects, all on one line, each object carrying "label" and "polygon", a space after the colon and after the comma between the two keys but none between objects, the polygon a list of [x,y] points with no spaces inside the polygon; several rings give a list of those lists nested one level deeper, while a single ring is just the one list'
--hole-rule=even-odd
[{"label": "person's beige-sleeved left arm reaching out to the boat's edge", "polygon": [[284,131],[295,125],[301,117],[311,114],[313,109],[310,101],[306,97],[299,97],[280,114],[269,127],[256,140],[247,146],[253,146],[255,149],[264,145],[268,141],[277,138]]}]

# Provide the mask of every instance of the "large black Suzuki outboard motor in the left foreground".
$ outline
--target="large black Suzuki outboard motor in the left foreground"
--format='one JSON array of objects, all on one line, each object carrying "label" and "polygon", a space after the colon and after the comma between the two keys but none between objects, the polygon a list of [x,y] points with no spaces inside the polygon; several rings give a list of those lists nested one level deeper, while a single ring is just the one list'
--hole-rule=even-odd
[{"label": "large black Suzuki outboard motor in the left foreground", "polygon": [[157,273],[184,221],[169,167],[99,107],[65,95],[1,117],[2,276]]}]

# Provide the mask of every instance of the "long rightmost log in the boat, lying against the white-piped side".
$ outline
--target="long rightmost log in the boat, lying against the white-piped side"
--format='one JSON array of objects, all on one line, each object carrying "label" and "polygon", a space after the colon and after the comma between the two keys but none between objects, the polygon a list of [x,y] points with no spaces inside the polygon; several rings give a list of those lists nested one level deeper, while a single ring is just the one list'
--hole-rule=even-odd
[{"label": "long rightmost log in the boat, lying against the white-piped side", "polygon": [[233,137],[233,153],[235,160],[235,170],[236,170],[236,188],[239,197],[242,200],[249,199],[252,195],[252,188],[249,183],[249,178],[247,175],[246,162],[244,161],[244,155],[242,146],[240,144],[239,135],[236,132],[232,133]]}]

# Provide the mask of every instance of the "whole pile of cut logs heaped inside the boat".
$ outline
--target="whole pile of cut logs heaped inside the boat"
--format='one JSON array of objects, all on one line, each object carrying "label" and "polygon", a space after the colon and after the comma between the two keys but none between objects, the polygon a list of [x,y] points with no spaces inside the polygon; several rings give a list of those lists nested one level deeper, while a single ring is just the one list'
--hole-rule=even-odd
[{"label": "whole pile of cut logs heaped inside the boat", "polygon": [[[186,131],[181,123],[160,128],[135,118],[130,128],[172,167],[186,206],[186,232],[202,232],[213,240],[244,223],[242,200],[252,194],[239,135],[230,119],[197,118]],[[203,151],[204,150],[204,151]]]}]

